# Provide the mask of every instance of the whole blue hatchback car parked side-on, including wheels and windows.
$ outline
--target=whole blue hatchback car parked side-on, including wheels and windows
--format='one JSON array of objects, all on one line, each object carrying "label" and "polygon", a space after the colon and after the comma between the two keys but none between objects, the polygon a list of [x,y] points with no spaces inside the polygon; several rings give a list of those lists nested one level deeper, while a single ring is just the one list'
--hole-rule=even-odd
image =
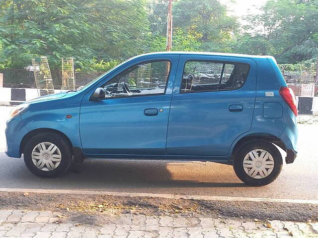
[{"label": "whole blue hatchback car parked side-on, including wheels and windows", "polygon": [[297,107],[273,57],[134,57],[74,91],[15,107],[6,154],[40,177],[85,158],[211,161],[265,185],[296,158]]}]

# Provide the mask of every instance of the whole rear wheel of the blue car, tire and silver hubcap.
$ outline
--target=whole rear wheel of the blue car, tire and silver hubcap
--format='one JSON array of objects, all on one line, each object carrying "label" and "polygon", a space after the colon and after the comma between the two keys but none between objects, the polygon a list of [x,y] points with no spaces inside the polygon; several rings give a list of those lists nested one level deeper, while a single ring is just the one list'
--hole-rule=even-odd
[{"label": "whole rear wheel of the blue car, tire and silver hubcap", "polygon": [[240,146],[234,171],[244,183],[263,186],[274,181],[283,166],[282,156],[269,141],[253,140]]}]

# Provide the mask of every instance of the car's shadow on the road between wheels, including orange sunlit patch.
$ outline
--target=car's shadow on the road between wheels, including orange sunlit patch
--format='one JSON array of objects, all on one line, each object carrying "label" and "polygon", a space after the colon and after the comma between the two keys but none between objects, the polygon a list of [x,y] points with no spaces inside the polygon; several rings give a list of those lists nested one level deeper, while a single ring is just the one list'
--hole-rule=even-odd
[{"label": "car's shadow on the road between wheels, including orange sunlit patch", "polygon": [[244,187],[232,166],[211,162],[88,160],[67,177],[105,187]]}]

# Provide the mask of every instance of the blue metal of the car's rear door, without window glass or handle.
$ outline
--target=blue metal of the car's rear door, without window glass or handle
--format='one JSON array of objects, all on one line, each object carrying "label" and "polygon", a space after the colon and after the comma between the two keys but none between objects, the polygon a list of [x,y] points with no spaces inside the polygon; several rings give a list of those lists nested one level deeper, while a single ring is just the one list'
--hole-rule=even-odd
[{"label": "blue metal of the car's rear door, without window glass or handle", "polygon": [[[180,93],[187,60],[242,62],[250,65],[245,84],[237,90]],[[256,63],[250,59],[219,56],[181,56],[172,95],[168,155],[226,156],[232,142],[251,128],[256,88]],[[229,107],[241,106],[241,112]]]}]

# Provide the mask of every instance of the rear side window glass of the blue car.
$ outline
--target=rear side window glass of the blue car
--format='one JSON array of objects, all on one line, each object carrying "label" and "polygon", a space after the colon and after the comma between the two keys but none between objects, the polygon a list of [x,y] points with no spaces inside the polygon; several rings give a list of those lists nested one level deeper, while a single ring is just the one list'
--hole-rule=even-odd
[{"label": "rear side window glass of the blue car", "polygon": [[238,62],[187,61],[181,93],[234,90],[246,81],[249,65]]}]

